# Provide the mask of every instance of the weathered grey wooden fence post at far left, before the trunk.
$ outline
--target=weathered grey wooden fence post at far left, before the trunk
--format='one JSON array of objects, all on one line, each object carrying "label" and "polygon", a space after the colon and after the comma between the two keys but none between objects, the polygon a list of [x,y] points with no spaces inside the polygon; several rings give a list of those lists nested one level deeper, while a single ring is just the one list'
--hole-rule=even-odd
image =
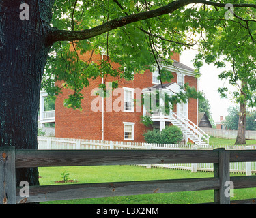
[{"label": "weathered grey wooden fence post at far left, before the trunk", "polygon": [[0,148],[0,204],[16,204],[15,148]]}]

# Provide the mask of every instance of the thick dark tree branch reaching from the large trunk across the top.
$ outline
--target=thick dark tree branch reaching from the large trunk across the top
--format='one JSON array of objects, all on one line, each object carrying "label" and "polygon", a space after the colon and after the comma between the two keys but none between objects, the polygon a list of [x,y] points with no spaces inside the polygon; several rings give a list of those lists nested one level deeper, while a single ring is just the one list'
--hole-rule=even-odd
[{"label": "thick dark tree branch reaching from the large trunk across the top", "polygon": [[[97,27],[93,27],[91,29],[85,29],[83,31],[67,31],[67,30],[59,30],[56,28],[51,28],[51,32],[48,34],[46,38],[46,42],[48,44],[57,42],[57,41],[72,41],[72,40],[85,40],[91,37],[95,37],[97,35],[101,35],[113,29],[117,29],[119,27],[123,27],[124,25],[128,25],[132,22],[137,22],[140,20],[147,20],[150,18],[155,18],[157,16],[162,16],[164,14],[171,14],[175,10],[189,5],[191,3],[201,3],[203,5],[211,5],[214,7],[225,7],[225,3],[216,3],[205,0],[178,0],[169,3],[163,7],[159,7],[155,10],[150,10],[146,12],[140,12],[138,14],[130,14],[129,16],[124,16],[121,18],[116,18],[114,20],[110,20],[102,25],[98,25]],[[233,7],[253,7],[256,8],[255,4],[233,4]]]}]

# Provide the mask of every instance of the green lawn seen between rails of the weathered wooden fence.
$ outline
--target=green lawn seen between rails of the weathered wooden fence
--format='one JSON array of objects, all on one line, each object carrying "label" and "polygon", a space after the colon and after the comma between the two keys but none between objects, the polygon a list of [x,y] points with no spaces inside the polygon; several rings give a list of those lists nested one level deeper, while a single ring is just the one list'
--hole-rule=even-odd
[{"label": "green lawn seen between rails of the weathered wooden fence", "polygon": [[[145,181],[175,178],[207,178],[211,172],[192,173],[186,170],[143,168],[141,166],[77,166],[39,168],[40,185],[56,185],[61,173],[70,173],[70,179],[78,183],[104,183],[117,181]],[[232,175],[237,176],[237,175]],[[68,184],[68,183],[66,183]],[[70,184],[70,183],[69,183]],[[198,204],[214,201],[214,191],[188,191],[180,193],[158,193],[138,196],[89,198],[82,200],[62,200],[41,202],[41,204]],[[231,200],[255,198],[256,189],[235,189]]]}]

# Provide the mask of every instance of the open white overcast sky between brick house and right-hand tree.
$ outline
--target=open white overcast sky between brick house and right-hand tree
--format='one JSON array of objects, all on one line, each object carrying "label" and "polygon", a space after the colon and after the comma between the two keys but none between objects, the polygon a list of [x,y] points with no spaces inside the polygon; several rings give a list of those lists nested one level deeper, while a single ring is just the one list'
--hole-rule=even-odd
[{"label": "open white overcast sky between brick house and right-hand tree", "polygon": [[[184,63],[188,67],[193,67],[192,60],[194,59],[196,52],[194,50],[185,50],[180,56],[180,62]],[[223,69],[217,69],[214,65],[204,64],[201,67],[201,77],[199,78],[199,91],[205,93],[206,99],[209,100],[212,112],[212,118],[214,121],[219,121],[220,116],[227,116],[227,108],[230,105],[234,105],[229,96],[228,99],[221,99],[220,94],[218,93],[218,88],[225,87],[228,85],[228,81],[220,80],[218,74],[220,74]],[[229,90],[234,89],[234,87],[229,86]]]}]

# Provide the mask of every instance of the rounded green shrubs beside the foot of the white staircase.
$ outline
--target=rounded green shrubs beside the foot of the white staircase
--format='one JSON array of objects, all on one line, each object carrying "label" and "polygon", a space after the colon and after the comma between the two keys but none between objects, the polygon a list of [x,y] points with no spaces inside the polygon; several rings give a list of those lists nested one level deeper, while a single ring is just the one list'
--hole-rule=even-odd
[{"label": "rounded green shrubs beside the foot of the white staircase", "polygon": [[143,134],[147,143],[177,144],[183,138],[182,131],[175,125],[167,126],[160,132],[159,129],[145,131]]}]

